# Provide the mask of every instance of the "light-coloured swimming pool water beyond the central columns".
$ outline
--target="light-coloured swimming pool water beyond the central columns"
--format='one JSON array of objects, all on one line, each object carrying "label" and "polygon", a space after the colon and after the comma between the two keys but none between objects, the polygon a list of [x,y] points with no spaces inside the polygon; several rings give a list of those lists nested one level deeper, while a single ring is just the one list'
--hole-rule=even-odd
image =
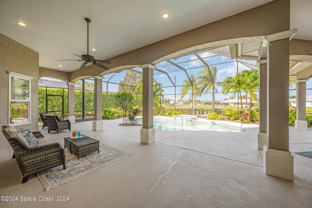
[{"label": "light-coloured swimming pool water beyond the central columns", "polygon": [[[142,118],[137,118],[137,123],[142,124]],[[167,131],[217,131],[217,132],[244,132],[243,128],[228,124],[216,123],[210,120],[195,120],[176,122],[172,117],[155,117],[154,128]]]}]

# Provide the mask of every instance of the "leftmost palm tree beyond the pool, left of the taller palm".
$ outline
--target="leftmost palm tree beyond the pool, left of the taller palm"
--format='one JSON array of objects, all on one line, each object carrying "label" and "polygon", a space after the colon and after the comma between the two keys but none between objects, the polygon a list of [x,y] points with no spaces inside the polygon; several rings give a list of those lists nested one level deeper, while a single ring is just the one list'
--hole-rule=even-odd
[{"label": "leftmost palm tree beyond the pool, left of the taller palm", "polygon": [[[196,83],[197,78],[194,75],[190,75],[190,79],[192,83]],[[183,99],[183,97],[189,92],[192,91],[192,113],[193,115],[195,114],[195,97],[197,96],[201,96],[201,92],[200,92],[200,88],[199,85],[191,85],[190,80],[184,79],[183,80],[183,86],[182,86],[182,92],[181,92],[181,100]]]}]

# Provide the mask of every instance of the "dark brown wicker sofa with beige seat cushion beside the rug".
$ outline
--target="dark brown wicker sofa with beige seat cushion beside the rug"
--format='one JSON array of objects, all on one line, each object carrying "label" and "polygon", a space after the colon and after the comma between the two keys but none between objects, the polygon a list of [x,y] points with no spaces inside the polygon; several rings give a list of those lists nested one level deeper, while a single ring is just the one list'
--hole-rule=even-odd
[{"label": "dark brown wicker sofa with beige seat cushion beside the rug", "polygon": [[[44,139],[41,132],[32,132],[39,141],[39,146],[34,148],[27,147],[18,137],[9,137],[4,131],[2,132],[12,149],[14,150],[13,158],[16,158],[23,174],[22,183],[27,182],[29,176],[48,170],[59,165],[65,169],[65,152],[59,143],[50,143]],[[40,145],[41,144],[41,145]]]}]

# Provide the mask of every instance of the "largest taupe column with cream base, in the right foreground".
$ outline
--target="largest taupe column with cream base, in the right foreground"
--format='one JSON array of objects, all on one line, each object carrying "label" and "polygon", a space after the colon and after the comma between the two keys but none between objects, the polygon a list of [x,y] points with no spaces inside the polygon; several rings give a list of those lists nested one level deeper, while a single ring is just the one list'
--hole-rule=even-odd
[{"label": "largest taupe column with cream base, in the right foreground", "polygon": [[[289,151],[289,40],[297,30],[264,37],[267,47],[267,141],[263,166],[268,175],[293,180]],[[267,45],[269,42],[269,45]]]}]

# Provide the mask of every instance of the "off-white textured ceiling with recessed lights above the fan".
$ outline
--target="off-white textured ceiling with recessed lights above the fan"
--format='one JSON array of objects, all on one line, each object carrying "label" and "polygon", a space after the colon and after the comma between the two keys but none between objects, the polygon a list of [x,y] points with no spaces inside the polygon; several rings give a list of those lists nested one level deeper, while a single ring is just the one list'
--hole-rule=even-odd
[{"label": "off-white textured ceiling with recessed lights above the fan", "polygon": [[[106,59],[269,1],[0,0],[0,33],[39,52],[40,67],[71,72],[81,62],[56,60],[76,59],[73,53],[86,54],[86,17],[92,20],[89,48],[97,48],[89,53],[97,59]],[[306,25],[312,19],[308,15],[312,14],[301,12],[311,11],[307,9],[311,3],[292,0],[292,10],[299,13],[291,25],[291,28],[298,25],[295,38],[312,39],[311,24]],[[162,19],[164,12],[169,12],[170,18]],[[21,27],[16,23],[18,20],[27,26]],[[63,67],[58,67],[59,64]]]}]

